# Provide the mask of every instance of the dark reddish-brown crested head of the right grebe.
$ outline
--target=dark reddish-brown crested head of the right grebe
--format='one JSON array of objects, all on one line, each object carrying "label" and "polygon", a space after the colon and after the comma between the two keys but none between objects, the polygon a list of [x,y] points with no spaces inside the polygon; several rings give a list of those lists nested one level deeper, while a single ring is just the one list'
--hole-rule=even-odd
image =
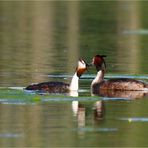
[{"label": "dark reddish-brown crested head of the right grebe", "polygon": [[92,65],[95,65],[96,70],[106,70],[105,55],[96,55],[92,60]]}]

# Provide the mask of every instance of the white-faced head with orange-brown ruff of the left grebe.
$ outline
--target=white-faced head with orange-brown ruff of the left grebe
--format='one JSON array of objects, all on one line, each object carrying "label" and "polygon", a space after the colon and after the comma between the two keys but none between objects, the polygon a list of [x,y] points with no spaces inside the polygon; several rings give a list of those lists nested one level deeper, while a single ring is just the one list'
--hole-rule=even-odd
[{"label": "white-faced head with orange-brown ruff of the left grebe", "polygon": [[84,60],[79,59],[78,66],[76,68],[77,76],[81,77],[81,75],[87,70],[87,64],[84,62]]}]

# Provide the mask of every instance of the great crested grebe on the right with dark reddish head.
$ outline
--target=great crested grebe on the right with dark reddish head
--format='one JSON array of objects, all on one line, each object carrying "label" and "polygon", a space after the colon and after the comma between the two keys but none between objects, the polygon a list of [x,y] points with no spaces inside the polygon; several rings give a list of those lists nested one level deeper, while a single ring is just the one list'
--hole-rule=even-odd
[{"label": "great crested grebe on the right with dark reddish head", "polygon": [[148,91],[148,84],[141,81],[129,78],[114,78],[104,80],[106,71],[105,55],[96,55],[92,60],[92,65],[95,65],[97,76],[91,83],[92,93],[95,94],[100,90],[114,91]]}]

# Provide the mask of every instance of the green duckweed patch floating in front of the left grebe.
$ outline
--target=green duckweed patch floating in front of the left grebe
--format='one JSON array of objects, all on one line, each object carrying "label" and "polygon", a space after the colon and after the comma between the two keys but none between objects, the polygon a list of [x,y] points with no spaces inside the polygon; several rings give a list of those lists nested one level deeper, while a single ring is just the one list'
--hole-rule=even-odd
[{"label": "green duckweed patch floating in front of the left grebe", "polygon": [[102,99],[101,97],[95,96],[87,96],[87,97],[71,97],[65,94],[38,94],[35,92],[26,92],[24,90],[18,89],[10,89],[10,88],[1,88],[0,89],[0,102],[69,102],[73,100],[79,101],[95,101]]}]

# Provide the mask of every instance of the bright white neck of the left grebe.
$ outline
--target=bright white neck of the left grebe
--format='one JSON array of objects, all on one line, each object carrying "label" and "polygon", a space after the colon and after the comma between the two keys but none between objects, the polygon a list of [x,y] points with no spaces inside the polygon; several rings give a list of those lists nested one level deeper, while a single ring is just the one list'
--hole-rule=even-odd
[{"label": "bright white neck of the left grebe", "polygon": [[72,77],[69,89],[71,91],[78,91],[79,89],[79,77],[77,76],[77,72]]}]

